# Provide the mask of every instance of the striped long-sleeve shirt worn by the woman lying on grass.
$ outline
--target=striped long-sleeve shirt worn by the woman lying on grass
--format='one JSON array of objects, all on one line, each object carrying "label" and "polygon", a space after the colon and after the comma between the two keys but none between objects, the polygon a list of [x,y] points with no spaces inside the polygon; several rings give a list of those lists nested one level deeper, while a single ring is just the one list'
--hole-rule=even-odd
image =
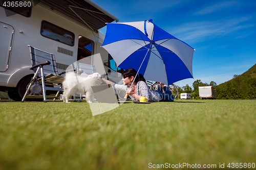
[{"label": "striped long-sleeve shirt worn by the woman lying on grass", "polygon": [[[115,90],[122,90],[126,91],[128,86],[126,85],[121,85],[121,84],[112,84],[113,89]],[[159,102],[161,100],[161,96],[157,91],[150,91],[146,85],[145,82],[139,81],[136,85],[136,94],[140,96],[144,96],[148,102]],[[137,102],[138,100],[135,99],[133,96],[129,95],[132,101]]]}]

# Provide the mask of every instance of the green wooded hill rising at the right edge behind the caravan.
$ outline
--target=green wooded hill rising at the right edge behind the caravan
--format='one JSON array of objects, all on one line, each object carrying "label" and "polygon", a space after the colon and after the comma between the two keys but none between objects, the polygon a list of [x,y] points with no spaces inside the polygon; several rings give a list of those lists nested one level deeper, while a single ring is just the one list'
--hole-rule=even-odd
[{"label": "green wooded hill rising at the right edge behind the caravan", "polygon": [[218,86],[217,99],[256,99],[256,64]]}]

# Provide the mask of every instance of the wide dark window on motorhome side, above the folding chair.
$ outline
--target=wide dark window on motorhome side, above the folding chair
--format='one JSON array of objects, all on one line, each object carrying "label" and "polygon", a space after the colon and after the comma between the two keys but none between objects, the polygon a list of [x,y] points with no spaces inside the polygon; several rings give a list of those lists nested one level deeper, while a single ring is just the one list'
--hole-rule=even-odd
[{"label": "wide dark window on motorhome side, above the folding chair", "polygon": [[42,21],[41,35],[67,45],[74,46],[74,33],[55,26],[47,21]]}]

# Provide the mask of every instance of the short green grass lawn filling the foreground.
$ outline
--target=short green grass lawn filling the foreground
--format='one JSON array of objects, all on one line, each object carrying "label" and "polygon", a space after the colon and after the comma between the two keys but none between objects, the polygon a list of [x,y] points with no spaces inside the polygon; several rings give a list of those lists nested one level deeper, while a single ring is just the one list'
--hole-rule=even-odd
[{"label": "short green grass lawn filling the foreground", "polygon": [[227,168],[256,163],[255,151],[255,100],[125,103],[96,116],[86,102],[0,102],[0,169]]}]

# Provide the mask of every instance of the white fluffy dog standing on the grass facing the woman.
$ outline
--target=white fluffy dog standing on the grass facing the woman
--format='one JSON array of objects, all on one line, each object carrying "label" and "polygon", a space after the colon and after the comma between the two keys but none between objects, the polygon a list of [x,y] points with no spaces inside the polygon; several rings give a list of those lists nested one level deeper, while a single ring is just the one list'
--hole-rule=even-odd
[{"label": "white fluffy dog standing on the grass facing the woman", "polygon": [[[65,80],[62,82],[63,102],[70,103],[68,100],[74,93],[86,94],[86,101],[88,103],[94,102],[93,90],[91,86],[101,84],[101,75],[95,72],[88,77],[80,77],[75,72],[67,72]],[[91,100],[91,101],[90,101]]]}]

